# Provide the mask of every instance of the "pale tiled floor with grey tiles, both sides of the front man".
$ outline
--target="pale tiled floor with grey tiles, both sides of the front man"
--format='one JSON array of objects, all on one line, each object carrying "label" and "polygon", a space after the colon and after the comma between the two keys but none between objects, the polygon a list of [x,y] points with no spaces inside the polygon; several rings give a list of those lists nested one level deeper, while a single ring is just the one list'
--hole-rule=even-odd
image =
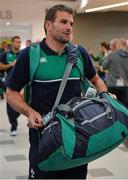
[{"label": "pale tiled floor with grey tiles, both sides of the front man", "polygon": [[[18,135],[10,137],[5,108],[5,100],[0,100],[0,179],[26,179],[29,149],[26,118],[19,117]],[[128,179],[127,148],[121,144],[89,163],[88,179]]]}]

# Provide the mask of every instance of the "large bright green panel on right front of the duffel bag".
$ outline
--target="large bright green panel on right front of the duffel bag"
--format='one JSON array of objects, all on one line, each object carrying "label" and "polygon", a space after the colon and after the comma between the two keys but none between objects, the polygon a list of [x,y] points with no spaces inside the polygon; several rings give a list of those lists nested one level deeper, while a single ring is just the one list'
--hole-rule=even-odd
[{"label": "large bright green panel on right front of the duffel bag", "polygon": [[[112,120],[110,120],[112,121]],[[88,149],[86,155],[90,154],[98,154],[99,149],[103,151],[104,149],[109,148],[114,144],[114,142],[119,142],[121,133],[125,132],[126,136],[128,136],[127,127],[119,121],[116,121],[112,127],[104,129],[104,131],[99,132],[90,137],[88,142]],[[102,137],[104,137],[104,143],[102,143]],[[109,144],[109,146],[107,146]]]}]

